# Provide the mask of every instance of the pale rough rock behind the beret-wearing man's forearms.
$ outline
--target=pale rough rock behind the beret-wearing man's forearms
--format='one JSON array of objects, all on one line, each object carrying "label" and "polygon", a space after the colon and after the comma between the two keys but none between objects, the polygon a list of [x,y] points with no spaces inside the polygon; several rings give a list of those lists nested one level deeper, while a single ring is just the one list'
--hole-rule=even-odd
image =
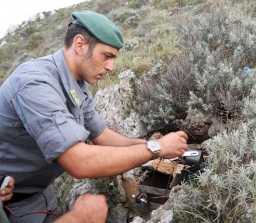
[{"label": "pale rough rock behind the beret-wearing man's forearms", "polygon": [[134,76],[131,70],[120,73],[118,84],[98,90],[94,101],[109,128],[128,137],[144,137],[145,127],[133,109],[134,89],[130,79]]}]

